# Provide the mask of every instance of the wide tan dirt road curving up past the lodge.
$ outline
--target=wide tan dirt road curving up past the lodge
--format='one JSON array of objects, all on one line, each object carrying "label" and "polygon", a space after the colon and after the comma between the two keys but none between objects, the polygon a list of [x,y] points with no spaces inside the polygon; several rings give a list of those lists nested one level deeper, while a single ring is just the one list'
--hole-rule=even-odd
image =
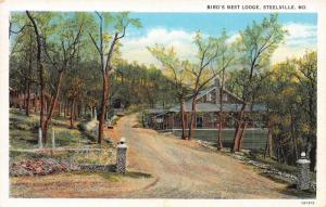
[{"label": "wide tan dirt road curving up past the lodge", "polygon": [[[118,137],[128,145],[128,170],[155,179],[141,191],[122,194],[143,198],[291,198],[286,185],[274,182],[231,157],[210,152],[153,130],[133,128],[136,115],[123,117]],[[293,198],[293,197],[292,197]]]}]

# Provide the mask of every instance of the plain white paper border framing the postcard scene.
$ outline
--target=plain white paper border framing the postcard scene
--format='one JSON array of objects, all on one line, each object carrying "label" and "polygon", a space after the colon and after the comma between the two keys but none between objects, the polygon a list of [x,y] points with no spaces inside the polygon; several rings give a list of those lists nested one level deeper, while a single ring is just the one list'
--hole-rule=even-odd
[{"label": "plain white paper border framing the postcard scene", "polygon": [[[326,1],[324,0],[12,0],[1,3],[0,0],[0,207],[2,206],[303,206],[301,199],[25,199],[8,198],[9,197],[9,38],[8,38],[8,16],[9,11],[131,11],[131,12],[286,12],[286,13],[318,13],[318,88],[317,88],[317,197],[313,199],[314,204],[309,206],[326,206],[326,88],[323,87],[326,66]],[[322,2],[324,1],[324,2]],[[208,4],[304,4],[304,11],[240,11],[240,10],[208,10]],[[306,199],[305,199],[306,200]],[[309,199],[311,200],[311,199]],[[304,205],[306,206],[306,205]]]}]

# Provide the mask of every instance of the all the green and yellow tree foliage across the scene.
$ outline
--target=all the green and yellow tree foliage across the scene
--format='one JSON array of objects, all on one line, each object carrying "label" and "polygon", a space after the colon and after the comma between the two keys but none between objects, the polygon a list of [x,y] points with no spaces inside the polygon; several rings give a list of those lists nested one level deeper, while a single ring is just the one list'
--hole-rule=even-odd
[{"label": "all the green and yellow tree foliage across the scene", "polygon": [[[221,86],[241,98],[244,106],[266,105],[268,112],[264,119],[272,126],[274,151],[280,161],[293,164],[301,151],[316,145],[317,55],[309,51],[300,59],[271,65],[272,54],[288,34],[277,14],[248,25],[234,42],[228,42],[226,30],[216,37],[197,31],[193,60],[180,60],[174,47],[149,46],[160,67],[122,59],[120,39],[125,37],[127,27],[141,26],[139,20],[127,12],[32,14],[45,41],[46,96],[53,100],[55,88],[60,86],[58,96],[65,109],[64,117],[87,118],[90,108],[100,112],[103,103],[111,117],[120,106],[138,111],[168,108],[175,103],[181,106],[188,93],[196,98],[220,77]],[[25,13],[12,13],[10,34],[10,87],[20,94],[29,90],[37,96],[40,93],[37,42]],[[98,53],[100,55],[96,55]],[[105,100],[102,100],[103,77],[108,77]],[[195,111],[193,102],[192,114]],[[233,120],[246,121],[246,118],[243,115]],[[17,127],[22,131],[35,128],[29,124]],[[78,125],[78,128],[84,127]]]}]

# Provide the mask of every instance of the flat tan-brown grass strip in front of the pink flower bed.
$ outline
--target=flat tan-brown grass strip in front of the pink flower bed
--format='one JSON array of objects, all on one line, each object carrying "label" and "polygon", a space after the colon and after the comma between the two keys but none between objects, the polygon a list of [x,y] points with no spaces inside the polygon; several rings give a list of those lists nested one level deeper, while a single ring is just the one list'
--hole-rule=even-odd
[{"label": "flat tan-brown grass strip in front of the pink flower bed", "polygon": [[125,174],[72,171],[42,177],[16,177],[10,179],[10,197],[120,197],[125,192],[141,191],[152,181],[150,176],[133,171]]}]

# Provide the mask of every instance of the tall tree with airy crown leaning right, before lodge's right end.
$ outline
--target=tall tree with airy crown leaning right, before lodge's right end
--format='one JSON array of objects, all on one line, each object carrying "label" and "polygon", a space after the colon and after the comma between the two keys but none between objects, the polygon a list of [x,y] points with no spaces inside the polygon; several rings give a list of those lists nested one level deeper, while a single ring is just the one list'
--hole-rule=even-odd
[{"label": "tall tree with airy crown leaning right, before lodge's right end", "polygon": [[242,106],[238,115],[237,128],[234,135],[231,152],[240,150],[243,128],[247,126],[244,121],[246,108],[252,102],[252,90],[254,75],[268,64],[269,57],[284,40],[287,31],[278,23],[277,14],[272,14],[263,20],[261,24],[255,22],[240,33],[239,52],[242,64],[248,76],[246,77],[246,86],[242,93]]}]

